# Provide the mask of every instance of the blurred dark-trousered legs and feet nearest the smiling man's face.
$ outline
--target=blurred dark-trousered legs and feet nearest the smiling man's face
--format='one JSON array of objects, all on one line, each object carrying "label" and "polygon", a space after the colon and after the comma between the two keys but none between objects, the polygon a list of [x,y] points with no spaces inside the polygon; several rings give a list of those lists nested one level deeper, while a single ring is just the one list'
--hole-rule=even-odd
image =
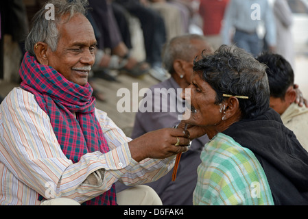
[{"label": "blurred dark-trousered legs and feet nearest the smiling man's face", "polygon": [[[122,70],[129,75],[138,77],[148,72],[149,64],[138,62],[130,55],[130,49],[123,42],[119,25],[112,10],[112,5],[107,0],[89,0],[92,8],[88,13],[91,24],[95,27],[97,48],[93,70],[97,68],[114,68]],[[105,49],[110,49],[110,55]]]}]

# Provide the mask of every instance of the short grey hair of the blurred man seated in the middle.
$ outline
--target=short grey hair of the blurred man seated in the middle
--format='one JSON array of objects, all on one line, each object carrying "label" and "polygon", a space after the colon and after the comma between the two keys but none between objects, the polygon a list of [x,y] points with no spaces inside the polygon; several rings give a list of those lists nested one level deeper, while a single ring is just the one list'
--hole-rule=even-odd
[{"label": "short grey hair of the blurred man seated in the middle", "polygon": [[[192,55],[200,48],[195,48],[194,45],[191,44],[191,40],[204,40],[204,42],[206,42],[206,38],[203,35],[185,34],[176,36],[165,44],[163,49],[163,66],[170,74],[174,73],[174,60],[180,59],[191,62],[195,58],[192,57]],[[213,52],[210,44],[204,49],[209,53]]]}]

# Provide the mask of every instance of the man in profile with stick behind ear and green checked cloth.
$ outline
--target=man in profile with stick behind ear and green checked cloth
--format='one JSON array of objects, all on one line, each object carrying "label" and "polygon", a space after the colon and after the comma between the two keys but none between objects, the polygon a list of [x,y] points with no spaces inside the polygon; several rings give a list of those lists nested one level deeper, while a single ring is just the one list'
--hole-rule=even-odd
[{"label": "man in profile with stick behind ear and green checked cloth", "polygon": [[185,123],[191,138],[196,130],[210,138],[195,205],[308,204],[308,153],[270,109],[265,68],[226,45],[194,63],[191,96],[183,94],[191,101]]}]

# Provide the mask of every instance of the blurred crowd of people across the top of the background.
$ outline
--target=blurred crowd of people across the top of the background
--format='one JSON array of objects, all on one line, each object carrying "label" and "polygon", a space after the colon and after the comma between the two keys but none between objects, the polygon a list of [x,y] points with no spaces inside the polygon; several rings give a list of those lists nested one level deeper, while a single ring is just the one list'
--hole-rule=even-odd
[{"label": "blurred crowd of people across the top of the background", "polygon": [[[32,17],[45,2],[1,1],[0,78],[3,78],[3,36],[11,35],[24,54],[23,42]],[[163,45],[187,33],[206,36],[213,49],[235,43],[255,56],[261,51],[275,51],[293,66],[289,5],[296,8],[296,3],[263,0],[256,6],[250,1],[237,0],[90,0],[88,19],[98,42],[93,77],[116,80],[109,71],[116,69],[133,77],[150,73],[163,81],[169,77],[162,66]],[[137,18],[143,33],[144,60],[138,60],[131,53],[132,17]]]}]

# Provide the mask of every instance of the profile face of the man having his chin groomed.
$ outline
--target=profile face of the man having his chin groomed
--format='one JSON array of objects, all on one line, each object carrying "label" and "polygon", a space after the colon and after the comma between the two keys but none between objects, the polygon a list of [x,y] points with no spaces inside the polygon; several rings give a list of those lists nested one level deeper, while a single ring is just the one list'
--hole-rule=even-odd
[{"label": "profile face of the man having his chin groomed", "polygon": [[204,81],[200,75],[193,73],[191,84],[188,86],[190,95],[183,92],[183,99],[190,98],[191,116],[186,123],[191,125],[215,127],[222,120],[221,106],[215,104],[216,92],[209,83]]}]

